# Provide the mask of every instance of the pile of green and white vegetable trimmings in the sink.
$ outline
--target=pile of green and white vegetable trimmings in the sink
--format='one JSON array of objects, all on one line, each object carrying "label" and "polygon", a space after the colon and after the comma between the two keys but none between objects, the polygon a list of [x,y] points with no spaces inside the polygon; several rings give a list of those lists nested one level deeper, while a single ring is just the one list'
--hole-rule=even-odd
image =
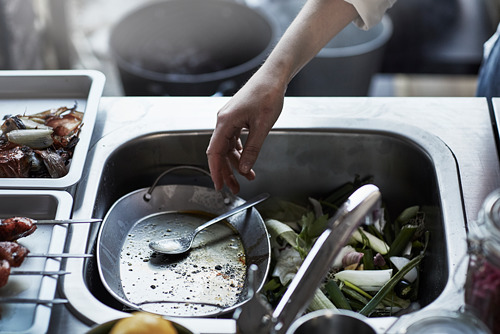
[{"label": "pile of green and white vegetable trimmings in the sink", "polygon": [[[308,207],[271,198],[259,207],[271,234],[270,277],[262,293],[276,306],[327,222],[369,178],[348,182]],[[308,311],[353,310],[366,316],[388,316],[417,299],[419,263],[428,240],[425,214],[419,206],[405,209],[394,221],[383,209],[372,225],[361,226],[333,263]]]}]

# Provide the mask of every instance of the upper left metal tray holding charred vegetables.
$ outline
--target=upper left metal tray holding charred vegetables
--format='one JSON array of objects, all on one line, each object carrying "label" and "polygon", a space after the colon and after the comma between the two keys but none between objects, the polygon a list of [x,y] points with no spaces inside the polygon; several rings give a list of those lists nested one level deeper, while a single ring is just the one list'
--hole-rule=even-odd
[{"label": "upper left metal tray holding charred vegetables", "polygon": [[60,178],[0,178],[0,188],[64,190],[80,180],[105,77],[94,70],[0,71],[0,119],[72,107],[84,112],[79,142],[68,174]]}]

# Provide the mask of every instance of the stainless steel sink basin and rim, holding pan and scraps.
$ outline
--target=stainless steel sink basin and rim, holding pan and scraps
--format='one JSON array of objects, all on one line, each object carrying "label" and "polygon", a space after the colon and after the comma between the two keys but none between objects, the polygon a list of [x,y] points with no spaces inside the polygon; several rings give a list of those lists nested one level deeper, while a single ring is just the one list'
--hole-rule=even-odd
[{"label": "stainless steel sink basin and rim, holding pan and scraps", "polygon": [[[117,199],[150,186],[168,167],[206,168],[209,139],[208,131],[149,133],[147,127],[103,137],[89,152],[75,193],[74,216],[104,217]],[[402,319],[411,322],[423,310],[457,310],[463,304],[460,287],[465,273],[458,265],[466,253],[466,229],[460,183],[453,153],[437,137],[405,124],[339,119],[334,128],[271,132],[255,170],[255,181],[240,180],[243,198],[267,191],[303,199],[324,194],[355,175],[372,175],[390,212],[425,205],[431,240],[422,263],[421,309]],[[211,186],[206,176],[186,173],[167,176],[162,183]],[[70,251],[93,252],[97,233],[98,226],[74,226]],[[62,282],[62,292],[77,317],[102,323],[123,316],[122,305],[103,288],[94,260],[70,259],[67,267],[79,273]],[[370,322],[382,333],[395,330],[401,323],[397,320]],[[227,318],[183,321],[200,333],[234,332],[234,323]]]}]

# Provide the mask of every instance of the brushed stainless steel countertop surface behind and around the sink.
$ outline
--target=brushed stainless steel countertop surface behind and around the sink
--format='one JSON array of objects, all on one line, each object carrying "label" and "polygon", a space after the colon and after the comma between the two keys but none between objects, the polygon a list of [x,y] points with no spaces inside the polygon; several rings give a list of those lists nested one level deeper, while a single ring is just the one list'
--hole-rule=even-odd
[{"label": "brushed stainless steel countertop surface behind and around the sink", "polygon": [[[216,113],[228,99],[103,97],[91,145],[134,127],[143,117],[151,118],[155,131],[213,129]],[[327,129],[339,119],[355,124],[360,118],[407,123],[448,145],[457,161],[468,223],[476,219],[483,199],[500,187],[495,134],[484,98],[287,97],[275,129]],[[56,306],[52,318],[50,333],[83,333],[89,328],[64,306]]]}]

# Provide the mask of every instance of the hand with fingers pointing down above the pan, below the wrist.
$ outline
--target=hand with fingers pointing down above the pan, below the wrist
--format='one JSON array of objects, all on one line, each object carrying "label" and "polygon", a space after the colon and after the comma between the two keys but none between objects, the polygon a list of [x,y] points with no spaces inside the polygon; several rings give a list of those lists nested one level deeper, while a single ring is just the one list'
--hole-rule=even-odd
[{"label": "hand with fingers pointing down above the pan, below the wrist", "polygon": [[[234,194],[240,185],[233,168],[248,180],[253,165],[283,108],[284,88],[273,87],[265,75],[254,75],[217,113],[217,123],[207,148],[208,166],[216,190],[227,187]],[[245,145],[243,129],[248,130]]]}]

